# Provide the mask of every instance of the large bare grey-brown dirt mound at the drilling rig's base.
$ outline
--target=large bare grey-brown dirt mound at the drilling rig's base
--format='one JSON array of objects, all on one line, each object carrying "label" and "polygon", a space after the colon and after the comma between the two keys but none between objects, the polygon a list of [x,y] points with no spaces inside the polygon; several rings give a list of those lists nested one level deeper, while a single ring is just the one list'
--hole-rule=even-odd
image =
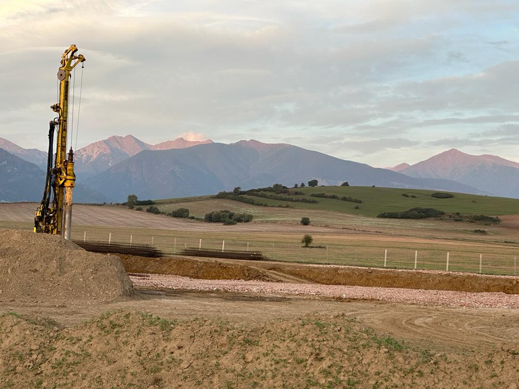
[{"label": "large bare grey-brown dirt mound at the drilling rig's base", "polygon": [[62,237],[0,230],[0,301],[111,301],[133,294],[114,255],[88,253]]}]

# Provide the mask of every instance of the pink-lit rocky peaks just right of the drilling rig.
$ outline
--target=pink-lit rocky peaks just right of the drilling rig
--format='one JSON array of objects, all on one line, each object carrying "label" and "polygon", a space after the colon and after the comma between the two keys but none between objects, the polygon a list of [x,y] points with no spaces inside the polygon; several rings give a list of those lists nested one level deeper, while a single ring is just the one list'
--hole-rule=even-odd
[{"label": "pink-lit rocky peaks just right of the drilling rig", "polygon": [[132,135],[111,136],[103,141],[91,143],[77,150],[75,171],[76,175],[86,178],[104,172],[111,166],[143,150],[185,148],[204,143],[212,143],[212,141],[186,141],[180,137],[174,141],[149,145]]}]

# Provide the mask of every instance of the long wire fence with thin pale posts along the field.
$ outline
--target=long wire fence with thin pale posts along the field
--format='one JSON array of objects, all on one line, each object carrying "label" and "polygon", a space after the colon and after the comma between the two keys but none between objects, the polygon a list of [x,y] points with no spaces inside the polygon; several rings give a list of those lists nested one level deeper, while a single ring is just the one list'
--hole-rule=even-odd
[{"label": "long wire fence with thin pale posts along the field", "polygon": [[[444,270],[498,275],[519,275],[519,248],[477,245],[416,244],[415,248],[398,247],[398,242],[356,241],[305,247],[289,242],[266,242],[241,239],[216,239],[149,235],[146,233],[73,231],[74,240],[86,242],[148,244],[166,254],[179,254],[185,248],[261,252],[271,260],[320,263],[375,268]],[[386,243],[386,244],[385,244]],[[406,243],[411,245],[412,243]]]}]

